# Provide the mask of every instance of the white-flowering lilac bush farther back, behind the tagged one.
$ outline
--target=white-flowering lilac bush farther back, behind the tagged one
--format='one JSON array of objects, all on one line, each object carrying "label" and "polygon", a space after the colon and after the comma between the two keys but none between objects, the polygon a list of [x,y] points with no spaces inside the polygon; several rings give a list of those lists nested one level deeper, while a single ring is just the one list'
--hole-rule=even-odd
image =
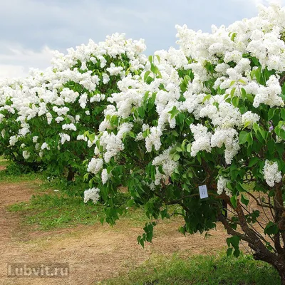
[{"label": "white-flowering lilac bush farther back, behind the tagged one", "polygon": [[66,55],[56,52],[46,71],[1,82],[1,151],[51,171],[71,164],[83,170],[83,160],[93,157],[93,142],[85,134],[99,129],[107,99],[120,91],[117,83],[144,68],[144,50],[143,40],[115,33],[98,44],[70,48]]}]

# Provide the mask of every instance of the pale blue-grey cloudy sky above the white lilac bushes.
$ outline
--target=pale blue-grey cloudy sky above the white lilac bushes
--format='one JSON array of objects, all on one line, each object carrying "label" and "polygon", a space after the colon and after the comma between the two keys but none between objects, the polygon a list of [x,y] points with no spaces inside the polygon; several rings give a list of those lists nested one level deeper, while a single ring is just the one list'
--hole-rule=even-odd
[{"label": "pale blue-grey cloudy sky above the white lilac bushes", "polygon": [[[280,0],[285,4],[285,0]],[[119,32],[145,38],[147,54],[176,46],[175,24],[211,31],[257,16],[267,0],[0,0],[0,78],[26,76],[66,52]]]}]

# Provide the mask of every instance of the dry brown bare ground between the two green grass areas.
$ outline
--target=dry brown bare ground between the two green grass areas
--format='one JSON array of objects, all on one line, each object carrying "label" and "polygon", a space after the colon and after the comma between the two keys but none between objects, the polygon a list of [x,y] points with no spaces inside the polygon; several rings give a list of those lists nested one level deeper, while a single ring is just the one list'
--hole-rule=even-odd
[{"label": "dry brown bare ground between the two green grass areas", "polygon": [[[227,234],[218,224],[208,239],[195,234],[184,237],[177,232],[180,219],[157,225],[153,244],[142,249],[136,238],[142,228],[128,226],[122,220],[112,228],[104,224],[78,226],[53,232],[31,232],[21,224],[19,214],[7,212],[6,206],[28,201],[34,192],[28,184],[0,184],[0,284],[3,285],[91,285],[97,281],[128,271],[149,259],[152,254],[200,254],[214,252],[225,246]],[[48,264],[67,262],[66,278],[7,278],[7,263]]]}]

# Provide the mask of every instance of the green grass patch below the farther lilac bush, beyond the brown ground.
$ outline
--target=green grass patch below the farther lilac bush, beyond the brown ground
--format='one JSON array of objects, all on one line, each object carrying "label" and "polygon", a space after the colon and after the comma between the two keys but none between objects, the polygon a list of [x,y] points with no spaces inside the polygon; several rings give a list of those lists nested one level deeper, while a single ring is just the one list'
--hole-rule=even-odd
[{"label": "green grass patch below the farther lilac bush, beyond the brown ground", "polygon": [[[9,171],[0,171],[0,183],[25,182],[34,186],[34,195],[28,202],[13,204],[7,208],[10,212],[21,214],[24,224],[32,224],[39,230],[48,231],[75,227],[77,224],[95,224],[103,217],[103,207],[100,204],[83,202],[82,195],[88,185],[49,178],[45,172],[17,175],[17,168],[13,164],[10,166]],[[123,203],[127,196],[128,194],[122,193]],[[135,227],[142,227],[148,220],[143,209],[131,209],[122,219]]]}]

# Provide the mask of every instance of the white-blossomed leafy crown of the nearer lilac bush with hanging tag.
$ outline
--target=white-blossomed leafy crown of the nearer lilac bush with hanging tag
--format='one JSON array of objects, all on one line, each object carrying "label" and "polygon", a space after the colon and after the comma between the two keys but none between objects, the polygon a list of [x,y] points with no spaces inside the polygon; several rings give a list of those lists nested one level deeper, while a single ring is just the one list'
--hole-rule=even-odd
[{"label": "white-blossomed leafy crown of the nearer lilac bush with hanging tag", "polygon": [[[177,26],[178,50],[156,51],[142,73],[122,78],[118,93],[108,98],[110,105],[96,141],[95,155],[103,160],[100,169],[104,168],[98,183],[105,185],[105,169],[113,175],[118,163],[142,167],[133,162],[136,154],[146,160],[142,165],[154,166],[146,168],[143,179],[152,189],[153,185],[165,187],[165,180],[178,175],[185,185],[194,187],[195,179],[205,175],[209,157],[216,163],[212,172],[218,167],[227,172],[261,149],[249,152],[244,147],[256,147],[257,142],[264,146],[268,140],[281,142],[283,129],[267,133],[274,113],[271,118],[266,115],[273,109],[280,114],[284,107],[285,42],[281,35],[285,26],[280,19],[285,9],[276,7],[261,6],[259,16],[229,27],[212,26],[212,33]],[[112,68],[112,72],[122,70]],[[143,170],[138,173],[142,175]],[[268,173],[264,171],[263,179],[269,185],[279,180],[279,175],[269,179]],[[217,192],[230,195],[228,180],[218,173],[216,177]]]}]

